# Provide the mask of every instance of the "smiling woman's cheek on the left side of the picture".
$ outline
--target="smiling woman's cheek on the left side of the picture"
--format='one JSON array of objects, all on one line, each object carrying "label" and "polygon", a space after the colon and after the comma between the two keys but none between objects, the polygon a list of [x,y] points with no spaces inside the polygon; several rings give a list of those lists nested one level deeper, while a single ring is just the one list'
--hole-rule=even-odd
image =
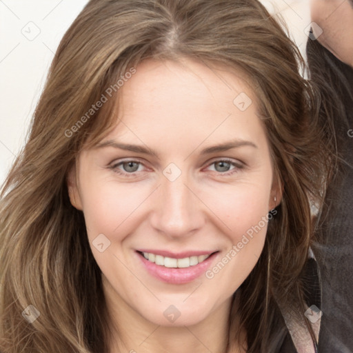
[{"label": "smiling woman's cheek on the left side of the picture", "polygon": [[[137,300],[139,286],[133,274],[123,265],[131,259],[125,258],[121,249],[124,239],[134,231],[137,224],[134,217],[139,214],[137,208],[146,195],[141,188],[137,192],[132,183],[119,185],[99,178],[86,179],[81,188],[85,225],[94,259],[114,288],[125,283],[121,293],[128,291],[128,296],[133,299],[136,296]],[[103,249],[99,249],[101,243]]]}]

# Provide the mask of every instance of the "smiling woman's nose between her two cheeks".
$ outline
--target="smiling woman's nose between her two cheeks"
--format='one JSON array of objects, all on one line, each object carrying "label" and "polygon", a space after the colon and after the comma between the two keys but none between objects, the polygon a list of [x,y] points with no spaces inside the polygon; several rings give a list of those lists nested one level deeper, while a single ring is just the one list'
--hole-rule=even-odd
[{"label": "smiling woman's nose between her two cheeks", "polygon": [[181,173],[174,181],[162,175],[161,185],[154,195],[152,227],[172,239],[190,236],[205,223],[201,195],[186,174]]}]

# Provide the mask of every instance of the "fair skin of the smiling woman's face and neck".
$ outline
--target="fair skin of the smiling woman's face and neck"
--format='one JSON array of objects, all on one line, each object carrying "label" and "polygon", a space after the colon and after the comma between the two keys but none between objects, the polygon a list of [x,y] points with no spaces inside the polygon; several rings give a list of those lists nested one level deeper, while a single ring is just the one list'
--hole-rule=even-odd
[{"label": "fair skin of the smiling woman's face and neck", "polygon": [[[139,145],[157,155],[111,143],[85,149],[68,178],[70,200],[83,211],[102,272],[115,328],[110,353],[244,352],[240,343],[227,347],[228,316],[232,294],[263,250],[267,224],[236,256],[229,253],[275,207],[274,196],[279,203],[270,148],[256,96],[240,73],[181,61],[140,63],[119,90],[121,121],[101,141]],[[245,111],[233,104],[240,92],[252,99]],[[201,154],[234,140],[234,148]],[[177,169],[165,169],[170,163]],[[177,179],[168,178],[179,171]],[[103,252],[92,245],[99,234],[110,241]],[[173,273],[188,269],[172,272],[152,263],[165,270],[167,279],[161,279],[145,266],[151,261],[140,250],[212,255],[201,274],[178,283]],[[227,254],[231,260],[207,278],[205,271]],[[169,314],[179,312],[175,321],[163,314],[168,307]]]}]

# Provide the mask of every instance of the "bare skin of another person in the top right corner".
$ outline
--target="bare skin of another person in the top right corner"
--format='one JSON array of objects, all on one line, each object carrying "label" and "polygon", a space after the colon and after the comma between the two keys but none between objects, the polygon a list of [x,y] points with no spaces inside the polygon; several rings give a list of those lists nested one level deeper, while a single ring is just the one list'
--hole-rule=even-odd
[{"label": "bare skin of another person in the top right corner", "polygon": [[312,21],[323,30],[317,40],[353,68],[353,1],[312,0],[311,14]]}]

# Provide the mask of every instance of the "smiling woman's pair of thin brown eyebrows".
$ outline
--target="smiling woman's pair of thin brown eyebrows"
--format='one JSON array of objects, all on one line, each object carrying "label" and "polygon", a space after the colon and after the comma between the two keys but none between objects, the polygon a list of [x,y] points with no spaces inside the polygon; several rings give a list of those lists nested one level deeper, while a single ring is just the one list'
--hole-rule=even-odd
[{"label": "smiling woman's pair of thin brown eyebrows", "polygon": [[[232,148],[239,148],[243,146],[250,146],[252,148],[258,148],[257,145],[255,145],[251,141],[246,141],[242,139],[236,139],[233,141],[226,141],[224,143],[220,143],[218,145],[213,145],[209,146],[207,148],[204,148],[201,150],[200,154],[211,154],[215,152],[225,152],[228,150],[232,150]],[[120,150],[125,150],[125,151],[130,151],[130,152],[136,152],[136,153],[143,153],[143,154],[148,154],[148,155],[154,155],[158,157],[158,153],[151,148],[148,148],[147,146],[143,145],[132,145],[130,143],[121,143],[118,141],[114,140],[108,140],[108,141],[103,141],[99,143],[96,148],[105,148],[105,147],[113,147],[113,148],[119,148]]]}]

